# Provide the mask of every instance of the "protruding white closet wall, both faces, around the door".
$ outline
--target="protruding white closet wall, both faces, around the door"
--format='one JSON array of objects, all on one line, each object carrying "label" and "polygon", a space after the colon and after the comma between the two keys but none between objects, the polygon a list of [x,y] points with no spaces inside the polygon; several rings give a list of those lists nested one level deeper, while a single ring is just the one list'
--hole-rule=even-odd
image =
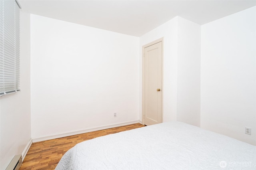
[{"label": "protruding white closet wall, both faces, around the door", "polygon": [[162,37],[163,122],[200,126],[200,25],[178,16],[140,37],[140,121],[142,46]]}]

